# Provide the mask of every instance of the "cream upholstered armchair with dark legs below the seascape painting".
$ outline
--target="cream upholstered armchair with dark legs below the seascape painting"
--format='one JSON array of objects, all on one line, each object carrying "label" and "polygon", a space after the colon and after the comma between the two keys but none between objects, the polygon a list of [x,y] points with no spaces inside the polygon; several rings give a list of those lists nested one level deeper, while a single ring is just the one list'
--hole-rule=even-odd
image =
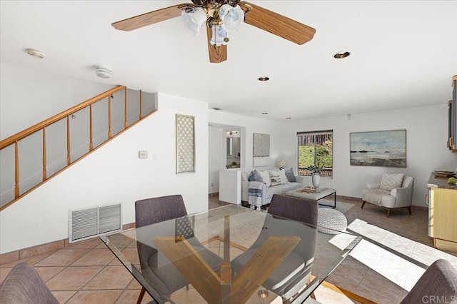
[{"label": "cream upholstered armchair with dark legs below the seascape painting", "polygon": [[381,183],[368,183],[368,189],[362,191],[362,207],[365,203],[373,203],[376,206],[387,208],[387,217],[391,214],[391,208],[408,208],[411,215],[413,203],[414,178],[403,176],[403,173],[383,173]]}]

